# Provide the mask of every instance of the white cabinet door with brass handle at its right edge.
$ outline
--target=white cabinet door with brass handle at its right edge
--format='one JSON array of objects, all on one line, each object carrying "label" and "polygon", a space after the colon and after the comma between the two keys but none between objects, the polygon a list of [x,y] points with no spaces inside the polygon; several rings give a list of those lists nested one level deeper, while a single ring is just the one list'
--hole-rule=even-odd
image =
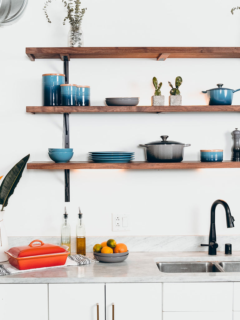
[{"label": "white cabinet door with brass handle at its right edge", "polygon": [[[105,285],[49,284],[49,320],[105,320]],[[97,305],[98,304],[98,305]]]}]

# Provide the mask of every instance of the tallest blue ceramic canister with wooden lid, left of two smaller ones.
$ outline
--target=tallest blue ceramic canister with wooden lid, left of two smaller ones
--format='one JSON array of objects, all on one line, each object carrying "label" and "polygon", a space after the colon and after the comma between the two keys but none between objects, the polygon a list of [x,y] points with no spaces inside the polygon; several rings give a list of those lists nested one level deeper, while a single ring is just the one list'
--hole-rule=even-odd
[{"label": "tallest blue ceramic canister with wooden lid, left of two smaller ones", "polygon": [[60,85],[65,83],[65,75],[60,73],[46,73],[42,76],[43,106],[60,106]]}]

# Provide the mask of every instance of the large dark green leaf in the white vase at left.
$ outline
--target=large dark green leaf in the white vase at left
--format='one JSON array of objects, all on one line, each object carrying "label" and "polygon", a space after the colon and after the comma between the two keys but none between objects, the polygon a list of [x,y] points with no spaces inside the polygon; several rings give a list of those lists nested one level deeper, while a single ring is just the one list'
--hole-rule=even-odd
[{"label": "large dark green leaf in the white vase at left", "polygon": [[5,176],[0,186],[0,204],[3,205],[1,211],[7,206],[9,197],[12,196],[14,189],[19,183],[29,156],[30,154],[22,158]]}]

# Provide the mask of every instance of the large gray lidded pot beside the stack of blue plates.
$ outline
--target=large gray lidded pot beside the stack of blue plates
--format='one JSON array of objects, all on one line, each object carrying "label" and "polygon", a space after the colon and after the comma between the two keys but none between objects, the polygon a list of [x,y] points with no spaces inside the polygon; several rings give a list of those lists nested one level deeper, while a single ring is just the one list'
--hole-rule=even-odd
[{"label": "large gray lidded pot beside the stack of blue plates", "polygon": [[176,141],[167,141],[168,136],[161,136],[162,141],[153,141],[146,144],[139,144],[139,147],[146,148],[148,162],[181,162],[183,159],[184,144]]}]

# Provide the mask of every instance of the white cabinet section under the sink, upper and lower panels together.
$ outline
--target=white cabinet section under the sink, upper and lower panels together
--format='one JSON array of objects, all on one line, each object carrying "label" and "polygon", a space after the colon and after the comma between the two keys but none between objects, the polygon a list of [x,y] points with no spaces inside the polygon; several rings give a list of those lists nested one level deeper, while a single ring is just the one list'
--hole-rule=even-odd
[{"label": "white cabinet section under the sink, upper and lower panels together", "polygon": [[163,320],[231,320],[232,303],[232,282],[163,284]]}]

